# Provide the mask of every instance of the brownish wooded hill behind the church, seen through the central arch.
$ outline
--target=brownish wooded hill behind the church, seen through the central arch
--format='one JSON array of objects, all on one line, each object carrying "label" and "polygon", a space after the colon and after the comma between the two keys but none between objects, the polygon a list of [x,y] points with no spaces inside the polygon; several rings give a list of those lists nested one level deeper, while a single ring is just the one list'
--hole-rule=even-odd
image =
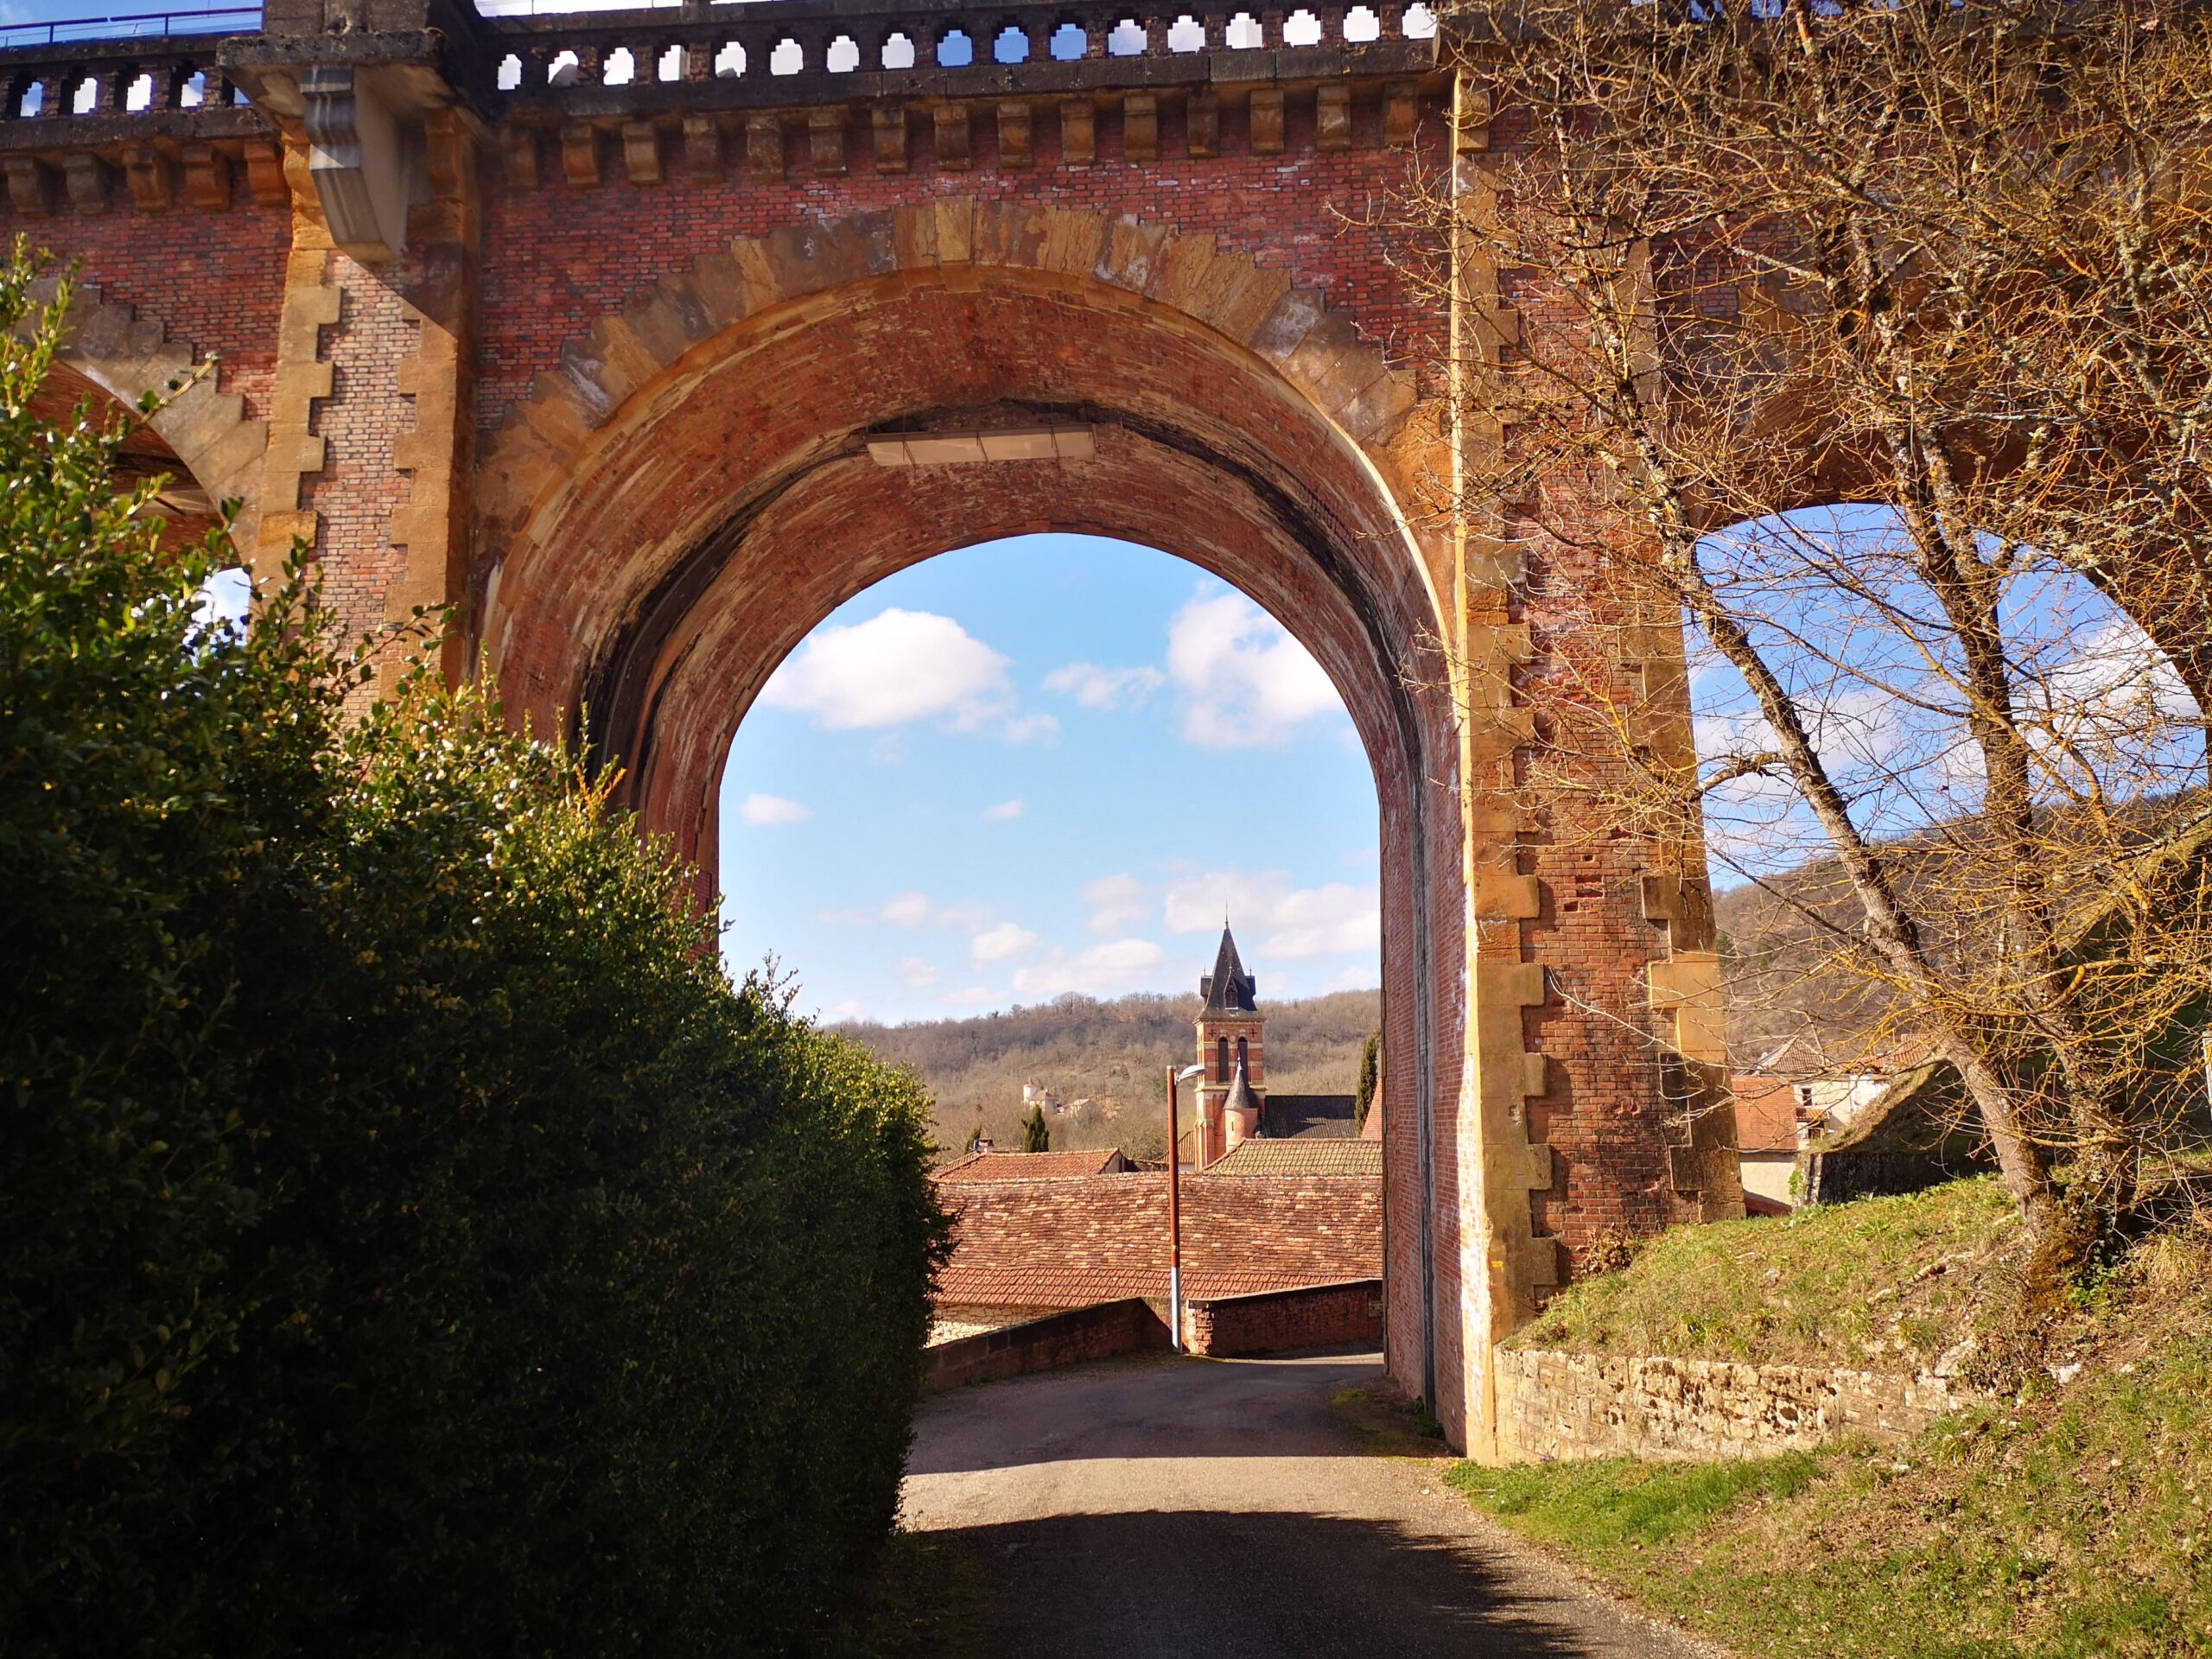
[{"label": "brownish wooded hill behind the church, seen through the central arch", "polygon": [[[1338,991],[1267,1002],[1267,1088],[1349,1095],[1360,1044],[1383,1015],[1380,991]],[[1022,1144],[1022,1084],[1040,1084],[1068,1110],[1048,1117],[1055,1150],[1119,1146],[1130,1157],[1166,1148],[1166,1071],[1197,1057],[1194,995],[1064,995],[1033,1009],[971,1020],[834,1026],[894,1066],[914,1066],[938,1102],[938,1144],[958,1150],[982,1124],[1000,1148]],[[1188,1097],[1186,1097],[1188,1099]],[[1088,1102],[1077,1106],[1077,1102]]]}]

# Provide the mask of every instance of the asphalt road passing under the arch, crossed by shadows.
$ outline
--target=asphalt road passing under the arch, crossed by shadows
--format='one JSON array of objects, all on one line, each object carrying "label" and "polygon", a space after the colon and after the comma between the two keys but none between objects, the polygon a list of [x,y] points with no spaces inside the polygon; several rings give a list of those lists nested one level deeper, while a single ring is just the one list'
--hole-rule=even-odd
[{"label": "asphalt road passing under the arch, crossed by shadows", "polygon": [[1002,1659],[1710,1659],[1329,1407],[1374,1354],[1108,1360],[922,1409],[905,1517],[973,1553]]}]

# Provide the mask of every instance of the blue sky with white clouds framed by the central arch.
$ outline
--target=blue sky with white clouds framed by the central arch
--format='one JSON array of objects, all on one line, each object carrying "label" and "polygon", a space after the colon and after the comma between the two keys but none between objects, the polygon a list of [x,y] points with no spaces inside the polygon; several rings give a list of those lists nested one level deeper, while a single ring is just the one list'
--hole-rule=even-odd
[{"label": "blue sky with white clouds framed by the central arch", "polygon": [[776,670],[721,792],[723,951],[801,1006],[927,1020],[1181,991],[1223,911],[1294,998],[1380,982],[1376,792],[1259,606],[1026,535],[876,584]]}]

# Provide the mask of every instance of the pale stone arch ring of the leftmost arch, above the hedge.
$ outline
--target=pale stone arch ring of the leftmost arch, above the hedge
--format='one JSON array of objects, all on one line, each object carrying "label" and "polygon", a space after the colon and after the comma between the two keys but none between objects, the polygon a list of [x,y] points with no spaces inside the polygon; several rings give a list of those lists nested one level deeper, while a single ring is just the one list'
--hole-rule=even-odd
[{"label": "pale stone arch ring of the leftmost arch, above the hedge", "polygon": [[[33,296],[51,301],[55,288],[49,279]],[[128,409],[137,409],[148,392],[168,398],[148,427],[210,502],[239,504],[230,542],[250,557],[261,524],[268,422],[248,418],[246,398],[223,392],[212,372],[192,380],[201,354],[188,341],[173,341],[157,319],[139,316],[135,307],[104,299],[91,285],[73,294],[55,361]]]}]

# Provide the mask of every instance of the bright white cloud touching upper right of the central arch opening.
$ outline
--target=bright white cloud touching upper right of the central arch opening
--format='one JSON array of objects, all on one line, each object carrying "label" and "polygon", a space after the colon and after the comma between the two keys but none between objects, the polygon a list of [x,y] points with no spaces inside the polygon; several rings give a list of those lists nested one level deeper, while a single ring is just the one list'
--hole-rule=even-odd
[{"label": "bright white cloud touching upper right of the central arch opening", "polygon": [[1175,613],[1168,677],[1183,739],[1208,750],[1279,748],[1305,721],[1343,712],[1321,664],[1241,593],[1201,595]]}]

